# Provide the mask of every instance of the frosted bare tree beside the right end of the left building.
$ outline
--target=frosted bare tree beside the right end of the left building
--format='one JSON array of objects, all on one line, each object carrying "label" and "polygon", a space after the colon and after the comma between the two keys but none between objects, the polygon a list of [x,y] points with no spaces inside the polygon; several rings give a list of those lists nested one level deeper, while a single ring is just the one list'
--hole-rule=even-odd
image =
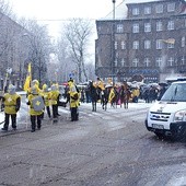
[{"label": "frosted bare tree beside the right end of the left building", "polygon": [[23,26],[28,31],[24,33],[30,48],[28,62],[33,66],[33,78],[44,83],[47,81],[47,66],[53,51],[50,37],[46,26],[40,26],[36,21],[22,20]]}]

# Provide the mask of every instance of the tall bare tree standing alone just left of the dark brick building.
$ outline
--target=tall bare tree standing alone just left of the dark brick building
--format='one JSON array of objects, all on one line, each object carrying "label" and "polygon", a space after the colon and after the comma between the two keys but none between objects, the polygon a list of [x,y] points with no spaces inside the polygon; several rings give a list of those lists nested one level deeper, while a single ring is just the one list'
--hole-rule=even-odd
[{"label": "tall bare tree standing alone just left of the dark brick building", "polygon": [[89,39],[92,34],[92,23],[90,20],[72,19],[65,25],[65,36],[70,46],[70,55],[78,68],[78,81],[82,82],[82,74],[88,81],[85,70],[85,56],[89,47]]}]

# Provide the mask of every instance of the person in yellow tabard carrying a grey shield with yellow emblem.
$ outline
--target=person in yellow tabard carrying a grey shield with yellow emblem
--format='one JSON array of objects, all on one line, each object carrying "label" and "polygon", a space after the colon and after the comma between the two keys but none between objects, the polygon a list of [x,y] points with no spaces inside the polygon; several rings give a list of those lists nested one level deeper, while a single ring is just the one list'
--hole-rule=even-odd
[{"label": "person in yellow tabard carrying a grey shield with yellow emblem", "polygon": [[27,96],[27,105],[30,105],[30,116],[31,116],[31,127],[32,132],[35,131],[36,125],[39,130],[42,127],[42,115],[44,112],[45,103],[44,97],[39,93],[39,89],[37,85],[33,85],[31,88],[30,95]]}]

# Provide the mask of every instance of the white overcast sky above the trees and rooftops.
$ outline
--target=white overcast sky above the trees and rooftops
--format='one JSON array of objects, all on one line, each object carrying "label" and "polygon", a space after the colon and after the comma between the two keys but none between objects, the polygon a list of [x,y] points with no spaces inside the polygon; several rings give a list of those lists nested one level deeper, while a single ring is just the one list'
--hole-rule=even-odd
[{"label": "white overcast sky above the trees and rooftops", "polygon": [[[49,25],[53,36],[59,32],[59,25],[69,18],[97,20],[113,10],[112,0],[8,0],[13,12],[20,18],[51,20]],[[116,0],[116,5],[123,0]],[[61,21],[59,21],[61,20]],[[39,22],[38,22],[39,23]],[[44,23],[44,22],[43,22]]]}]

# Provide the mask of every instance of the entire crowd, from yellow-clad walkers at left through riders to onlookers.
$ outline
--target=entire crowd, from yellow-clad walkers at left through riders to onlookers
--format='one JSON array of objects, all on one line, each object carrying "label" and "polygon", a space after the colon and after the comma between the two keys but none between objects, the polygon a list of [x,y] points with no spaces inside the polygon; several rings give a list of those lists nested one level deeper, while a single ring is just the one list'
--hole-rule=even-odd
[{"label": "entire crowd, from yellow-clad walkers at left through riders to onlookers", "polygon": [[[100,78],[96,81],[90,81],[84,89],[78,89],[73,79],[70,79],[62,95],[66,97],[66,102],[61,103],[58,84],[53,84],[50,88],[47,84],[43,84],[42,89],[39,89],[39,82],[33,80],[26,95],[26,104],[30,107],[31,131],[34,132],[36,129],[40,129],[45,113],[48,119],[57,123],[58,116],[60,116],[58,107],[66,107],[67,103],[69,103],[71,121],[77,121],[79,120],[80,102],[92,103],[93,112],[96,112],[96,103],[98,101],[103,105],[103,108],[106,108],[107,103],[113,107],[117,105],[121,107],[124,104],[124,107],[128,108],[129,102],[138,103],[139,98],[144,100],[146,103],[159,100],[165,90],[165,86],[133,86],[127,82],[113,84],[111,80],[105,84]],[[9,85],[8,92],[0,96],[0,101],[1,107],[4,111],[2,131],[8,131],[10,118],[12,129],[16,130],[16,114],[21,107],[21,96],[16,93],[13,84]]]}]

